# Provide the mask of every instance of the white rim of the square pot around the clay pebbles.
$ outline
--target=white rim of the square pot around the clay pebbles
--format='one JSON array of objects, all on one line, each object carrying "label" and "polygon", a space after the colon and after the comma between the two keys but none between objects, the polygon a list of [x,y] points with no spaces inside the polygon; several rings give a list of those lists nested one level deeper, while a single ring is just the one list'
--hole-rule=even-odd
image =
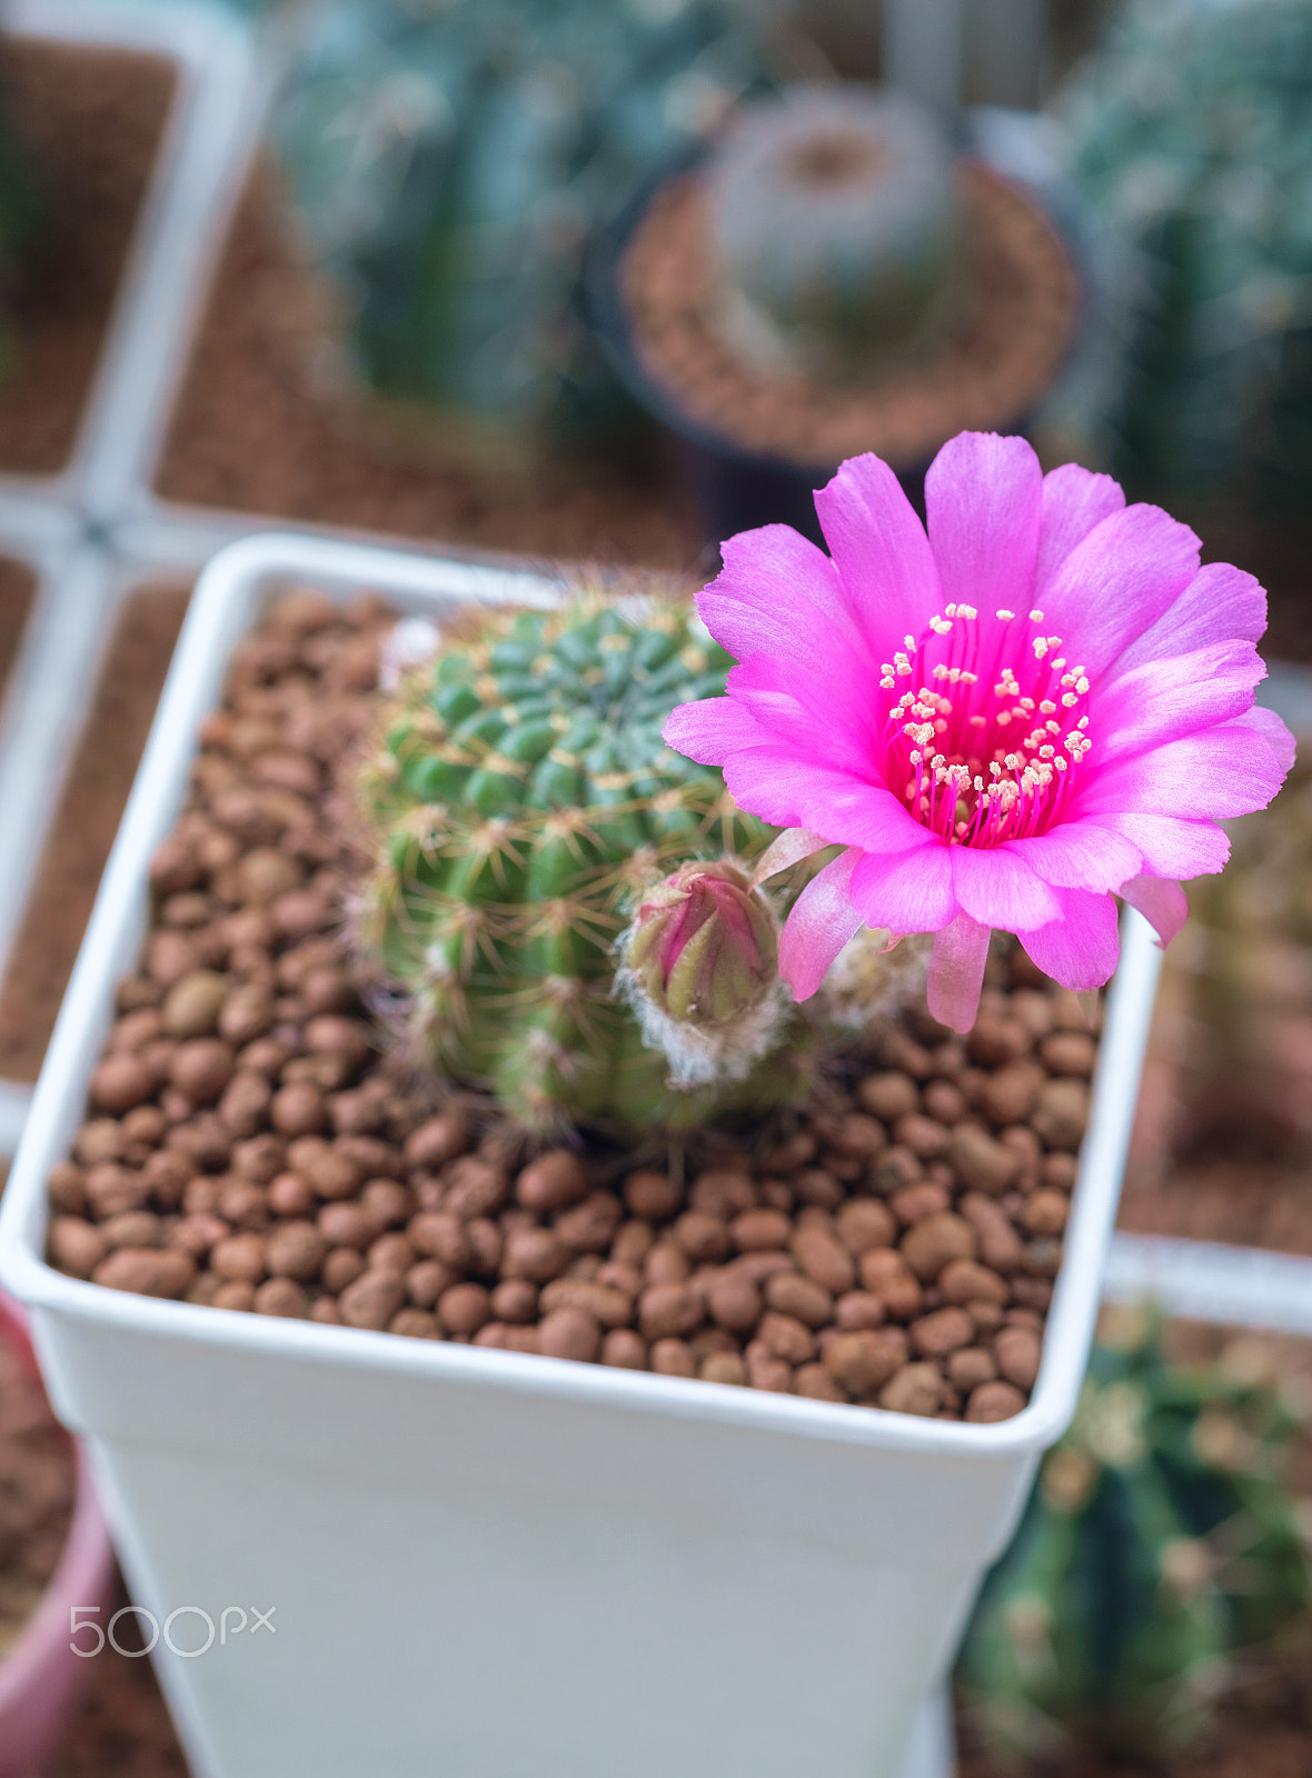
[{"label": "white rim of the square pot around the clay pebbles", "polygon": [[917,1419],[603,1366],[226,1314],[107,1291],[53,1271],[44,1262],[44,1168],[66,1152],[68,1138],[82,1118],[85,1079],[112,1003],[112,958],[123,949],[124,933],[140,932],[144,871],[181,798],[199,718],[213,702],[231,635],[229,608],[233,601],[251,597],[252,589],[288,581],[341,592],[380,590],[409,610],[432,610],[460,599],[540,606],[558,597],[558,585],[539,576],[293,533],[252,537],[215,557],[192,599],[0,1207],[0,1282],[21,1301],[71,1319],[203,1346],[281,1353],[315,1366],[441,1376],[478,1389],[907,1453],[1001,1462],[1052,1444],[1070,1421],[1084,1373],[1152,1008],[1157,949],[1147,923],[1131,910],[1124,921],[1122,964],[1109,997],[1090,1131],[1067,1234],[1067,1259],[1047,1319],[1044,1362],[1033,1399],[1010,1421],[980,1426]]}]

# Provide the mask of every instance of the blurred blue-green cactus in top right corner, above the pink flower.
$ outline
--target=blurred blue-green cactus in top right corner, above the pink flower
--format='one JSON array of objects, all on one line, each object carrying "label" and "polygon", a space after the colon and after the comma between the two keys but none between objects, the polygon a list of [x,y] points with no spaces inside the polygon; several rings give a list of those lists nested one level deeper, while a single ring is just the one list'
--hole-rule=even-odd
[{"label": "blurred blue-green cactus in top right corner, above the pink flower", "polygon": [[1125,267],[1084,430],[1134,487],[1312,489],[1312,9],[1131,0],[1061,94],[1070,165]]}]

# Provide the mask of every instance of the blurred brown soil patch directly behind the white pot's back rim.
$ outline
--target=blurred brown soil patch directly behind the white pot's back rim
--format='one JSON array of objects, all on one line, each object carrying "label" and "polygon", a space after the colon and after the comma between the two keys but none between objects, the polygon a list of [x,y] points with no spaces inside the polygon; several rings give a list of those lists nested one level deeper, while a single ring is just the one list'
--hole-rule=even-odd
[{"label": "blurred brown soil patch directly behind the white pot's back rim", "polygon": [[425,537],[546,560],[692,567],[693,507],[660,468],[626,477],[405,461],[311,386],[322,325],[268,167],[236,212],[156,475],[165,500]]}]

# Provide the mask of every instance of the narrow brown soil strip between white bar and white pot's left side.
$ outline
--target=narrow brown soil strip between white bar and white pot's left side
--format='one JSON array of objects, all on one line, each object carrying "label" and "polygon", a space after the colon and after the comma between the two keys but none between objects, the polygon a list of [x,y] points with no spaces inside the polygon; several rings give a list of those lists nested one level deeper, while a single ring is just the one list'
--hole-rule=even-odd
[{"label": "narrow brown soil strip between white bar and white pot's left side", "polygon": [[0,1077],[41,1072],[188,596],[187,587],[144,587],[119,612],[0,983]]}]

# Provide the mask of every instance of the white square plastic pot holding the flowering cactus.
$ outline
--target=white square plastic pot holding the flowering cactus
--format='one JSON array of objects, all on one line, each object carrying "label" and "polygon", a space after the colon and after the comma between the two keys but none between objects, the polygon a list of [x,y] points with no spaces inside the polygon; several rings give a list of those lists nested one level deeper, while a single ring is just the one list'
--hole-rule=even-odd
[{"label": "white square plastic pot holding the flowering cactus", "polygon": [[[146,869],[270,590],[549,603],[532,576],[313,539],[194,599],[0,1214],[197,1778],[892,1778],[1084,1371],[1156,951],[1131,917],[1029,1406],[921,1421],[155,1301],[43,1261]],[[188,1609],[194,1607],[194,1609]],[[274,1616],[263,1630],[251,1611]]]}]

